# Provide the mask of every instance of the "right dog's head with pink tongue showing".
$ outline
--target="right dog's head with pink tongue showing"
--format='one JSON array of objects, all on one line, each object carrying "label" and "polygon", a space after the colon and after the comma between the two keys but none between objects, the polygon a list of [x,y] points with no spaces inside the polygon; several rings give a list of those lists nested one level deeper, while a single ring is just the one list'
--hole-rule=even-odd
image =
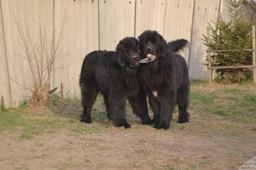
[{"label": "right dog's head with pink tongue showing", "polygon": [[156,56],[156,58],[164,57],[166,54],[167,43],[156,31],[147,30],[139,36],[137,51],[141,53],[142,58]]}]

